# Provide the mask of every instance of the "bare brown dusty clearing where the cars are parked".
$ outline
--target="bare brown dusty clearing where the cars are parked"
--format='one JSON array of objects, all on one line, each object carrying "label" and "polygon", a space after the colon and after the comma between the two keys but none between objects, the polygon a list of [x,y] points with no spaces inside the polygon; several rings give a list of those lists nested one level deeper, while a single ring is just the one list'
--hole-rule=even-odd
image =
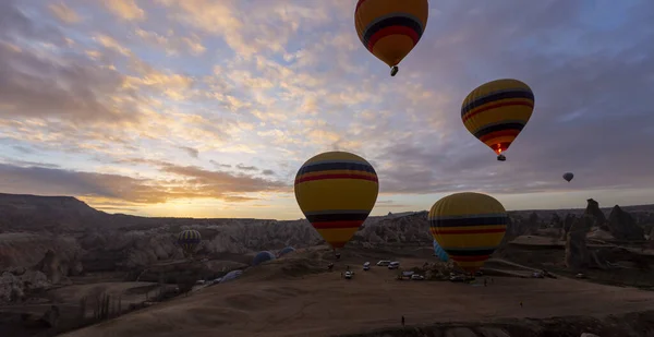
[{"label": "bare brown dusty clearing where the cars are parked", "polygon": [[[654,292],[569,278],[494,277],[488,287],[483,281],[398,281],[397,272],[385,267],[363,272],[363,262],[375,262],[370,257],[344,256],[335,272],[322,274],[308,274],[320,266],[302,267],[310,261],[251,268],[237,281],[62,336],[331,336],[398,326],[401,315],[413,325],[654,310]],[[398,261],[409,267],[425,258]],[[340,277],[346,264],[356,272],[352,280]]]}]

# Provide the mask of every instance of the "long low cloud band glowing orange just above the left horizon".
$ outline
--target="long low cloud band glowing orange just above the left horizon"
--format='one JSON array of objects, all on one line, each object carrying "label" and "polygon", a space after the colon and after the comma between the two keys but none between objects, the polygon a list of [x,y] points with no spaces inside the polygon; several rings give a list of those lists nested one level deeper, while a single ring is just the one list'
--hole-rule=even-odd
[{"label": "long low cloud band glowing orange just above the left horizon", "polygon": [[288,188],[282,182],[246,174],[210,171],[194,166],[160,164],[162,172],[172,173],[178,179],[140,179],[43,166],[0,164],[0,190],[5,193],[38,190],[39,194],[47,195],[73,194],[134,204],[158,204],[190,197],[245,202],[256,197],[242,195],[243,193],[270,192]]}]

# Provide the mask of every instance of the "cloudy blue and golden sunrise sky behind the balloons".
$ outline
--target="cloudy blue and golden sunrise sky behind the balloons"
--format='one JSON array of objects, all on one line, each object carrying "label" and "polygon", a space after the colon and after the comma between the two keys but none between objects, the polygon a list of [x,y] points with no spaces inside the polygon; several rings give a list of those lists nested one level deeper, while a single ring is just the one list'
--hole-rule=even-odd
[{"label": "cloudy blue and golden sunrise sky behind the balloons", "polygon": [[[654,1],[432,0],[396,77],[359,41],[355,2],[1,0],[0,192],[300,218],[296,170],[342,149],[377,170],[375,215],[458,191],[654,203]],[[501,77],[536,97],[505,163],[460,120]]]}]

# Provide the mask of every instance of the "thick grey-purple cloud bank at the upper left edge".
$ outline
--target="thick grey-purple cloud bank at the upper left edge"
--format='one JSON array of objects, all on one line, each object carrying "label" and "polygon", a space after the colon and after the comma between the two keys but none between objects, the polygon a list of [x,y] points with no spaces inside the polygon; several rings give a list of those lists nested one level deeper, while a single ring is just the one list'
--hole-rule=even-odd
[{"label": "thick grey-purple cloud bank at the upper left edge", "polygon": [[[13,37],[34,32],[25,29],[15,31]],[[116,70],[82,56],[44,56],[29,47],[0,44],[0,116],[4,118],[133,119],[131,106],[138,98],[123,88],[123,81]]]}]

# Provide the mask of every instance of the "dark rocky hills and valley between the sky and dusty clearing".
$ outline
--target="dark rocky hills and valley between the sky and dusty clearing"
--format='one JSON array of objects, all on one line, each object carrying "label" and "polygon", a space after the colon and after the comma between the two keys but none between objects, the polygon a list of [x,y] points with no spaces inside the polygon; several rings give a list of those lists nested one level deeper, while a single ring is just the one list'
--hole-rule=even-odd
[{"label": "dark rocky hills and valley between the sky and dusty clearing", "polygon": [[[654,287],[654,205],[601,208],[591,198],[585,209],[509,215],[496,257],[596,282]],[[185,228],[203,236],[192,263],[175,244]],[[348,246],[400,252],[429,248],[432,240],[427,212],[415,212],[370,217]],[[138,281],[159,289],[210,280],[246,268],[258,251],[322,243],[304,219],[144,218],[99,212],[74,197],[0,194],[0,305],[44,308],[57,302],[52,291],[75,285]]]}]

